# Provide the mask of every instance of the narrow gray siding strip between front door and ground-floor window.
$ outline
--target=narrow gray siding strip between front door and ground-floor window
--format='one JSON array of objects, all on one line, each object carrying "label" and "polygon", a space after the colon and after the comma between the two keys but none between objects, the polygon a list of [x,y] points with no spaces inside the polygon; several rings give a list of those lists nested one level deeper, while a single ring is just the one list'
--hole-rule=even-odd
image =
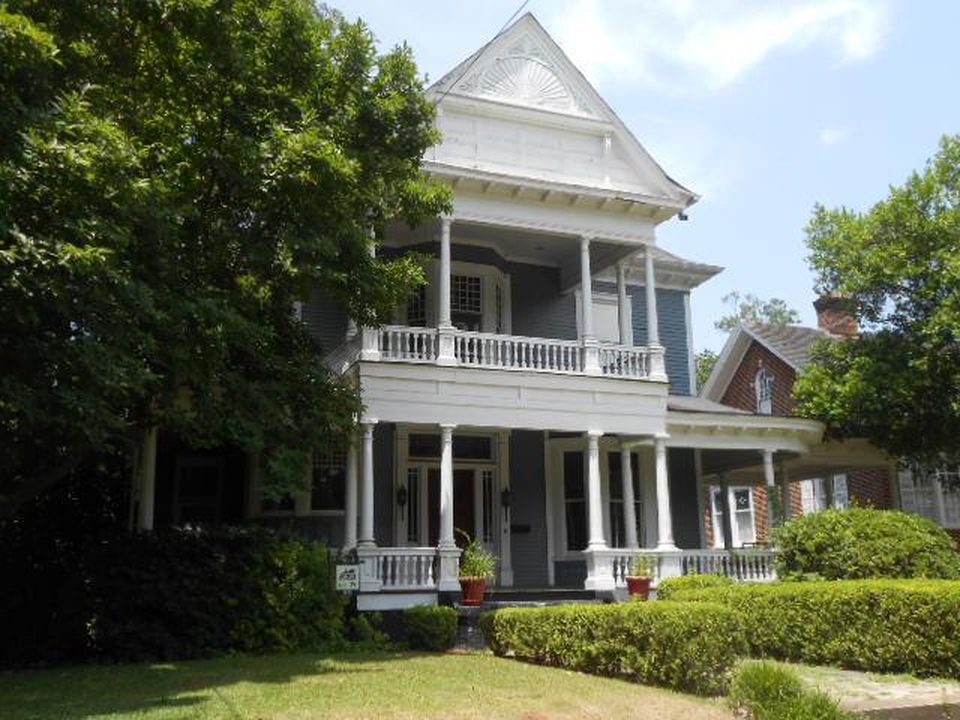
[{"label": "narrow gray siding strip between front door and ground-floor window", "polygon": [[[510,434],[510,535],[513,578],[517,587],[547,586],[546,483],[543,433]],[[520,528],[529,528],[520,532]]]}]

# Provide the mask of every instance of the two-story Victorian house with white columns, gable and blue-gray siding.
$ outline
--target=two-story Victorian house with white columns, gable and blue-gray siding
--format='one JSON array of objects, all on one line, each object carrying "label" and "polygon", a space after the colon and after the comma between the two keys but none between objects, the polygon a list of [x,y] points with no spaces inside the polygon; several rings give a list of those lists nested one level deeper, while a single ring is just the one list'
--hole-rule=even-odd
[{"label": "two-story Victorian house with white columns, gable and blue-gray siding", "polygon": [[357,328],[319,294],[302,307],[360,388],[358,437],[318,453],[303,493],[266,503],[256,463],[161,436],[141,524],[154,506],[172,522],[294,524],[356,550],[361,609],[458,592],[457,529],[497,555],[501,588],[611,594],[639,553],[660,576],[770,578],[764,548],[707,549],[707,489],[729,473],[772,485],[822,427],[696,396],[690,293],[720,268],[661,248],[657,228],[697,196],[532,15],[429,94],[442,141],[424,168],[453,212],[388,228],[376,251],[432,257],[432,281],[387,327]]}]

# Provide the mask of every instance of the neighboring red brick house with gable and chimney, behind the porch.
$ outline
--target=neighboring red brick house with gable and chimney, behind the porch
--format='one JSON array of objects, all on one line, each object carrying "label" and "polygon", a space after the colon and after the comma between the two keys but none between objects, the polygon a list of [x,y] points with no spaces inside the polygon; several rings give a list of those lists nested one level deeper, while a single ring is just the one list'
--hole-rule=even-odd
[{"label": "neighboring red brick house with gable and chimney, behind the porch", "polygon": [[[842,301],[823,298],[815,306],[816,328],[749,324],[734,329],[701,396],[757,415],[792,415],[793,384],[810,362],[814,343],[821,338],[857,332],[856,320],[844,311]],[[786,504],[788,516],[850,504],[891,508],[891,487],[886,469],[845,469],[817,477],[791,477],[781,489],[781,501]],[[722,490],[714,485],[707,486],[706,492],[707,542],[722,547],[722,533],[714,532],[722,513]],[[731,544],[736,547],[769,540],[768,488],[731,484],[727,492],[729,507],[737,514],[731,523]]]}]

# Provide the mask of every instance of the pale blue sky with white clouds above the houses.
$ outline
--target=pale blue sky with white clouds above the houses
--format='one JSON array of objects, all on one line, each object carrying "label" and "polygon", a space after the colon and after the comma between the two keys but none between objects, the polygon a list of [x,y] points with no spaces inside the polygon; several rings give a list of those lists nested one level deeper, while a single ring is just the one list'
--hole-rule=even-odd
[{"label": "pale blue sky with white clouds above the houses", "polygon": [[[437,79],[522,0],[333,0]],[[816,202],[867,209],[960,132],[955,0],[531,0],[647,150],[702,196],[666,249],[726,269],[694,291],[694,342],[730,291],[814,324],[803,227]]]}]

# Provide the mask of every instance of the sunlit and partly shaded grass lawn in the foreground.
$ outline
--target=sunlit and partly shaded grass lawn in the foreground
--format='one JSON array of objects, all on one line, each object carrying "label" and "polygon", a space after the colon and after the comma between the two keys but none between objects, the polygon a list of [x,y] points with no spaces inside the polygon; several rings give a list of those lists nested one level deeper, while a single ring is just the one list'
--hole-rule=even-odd
[{"label": "sunlit and partly shaded grass lawn in the foreground", "polygon": [[237,656],[0,673],[4,720],[731,718],[721,701],[487,654]]}]

